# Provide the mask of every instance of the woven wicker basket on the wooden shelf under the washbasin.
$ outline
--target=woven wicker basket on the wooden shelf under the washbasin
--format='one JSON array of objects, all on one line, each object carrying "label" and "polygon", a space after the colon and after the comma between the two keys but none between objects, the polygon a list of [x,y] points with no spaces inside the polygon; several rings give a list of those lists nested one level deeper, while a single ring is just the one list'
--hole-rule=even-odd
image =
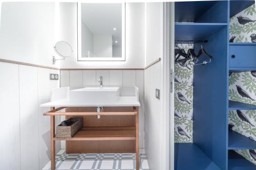
[{"label": "woven wicker basket on the wooden shelf under the washbasin", "polygon": [[82,117],[71,117],[67,122],[71,126],[57,126],[56,138],[72,138],[82,128]]}]

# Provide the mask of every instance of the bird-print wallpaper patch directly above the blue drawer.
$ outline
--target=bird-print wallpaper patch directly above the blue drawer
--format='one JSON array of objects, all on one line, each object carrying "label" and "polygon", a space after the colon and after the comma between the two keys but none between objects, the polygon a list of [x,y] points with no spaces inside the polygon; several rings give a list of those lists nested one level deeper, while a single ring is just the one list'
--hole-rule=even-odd
[{"label": "bird-print wallpaper patch directly above the blue drawer", "polygon": [[229,20],[229,42],[256,42],[255,4]]}]

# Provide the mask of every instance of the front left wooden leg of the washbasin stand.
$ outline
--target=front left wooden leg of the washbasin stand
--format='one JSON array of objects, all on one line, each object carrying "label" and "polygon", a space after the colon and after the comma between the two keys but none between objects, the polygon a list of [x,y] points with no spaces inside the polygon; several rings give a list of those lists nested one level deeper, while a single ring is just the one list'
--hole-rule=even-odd
[{"label": "front left wooden leg of the washbasin stand", "polygon": [[55,116],[51,116],[51,170],[55,170]]}]

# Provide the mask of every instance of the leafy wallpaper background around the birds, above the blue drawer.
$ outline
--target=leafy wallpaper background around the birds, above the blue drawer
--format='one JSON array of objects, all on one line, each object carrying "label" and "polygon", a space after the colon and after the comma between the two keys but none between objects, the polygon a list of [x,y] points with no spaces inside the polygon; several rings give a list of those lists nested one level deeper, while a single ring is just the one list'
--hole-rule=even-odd
[{"label": "leafy wallpaper background around the birds, above the blue drawer", "polygon": [[256,34],[256,22],[248,22],[245,25],[241,25],[238,22],[238,16],[256,20],[255,4],[234,15],[229,20],[229,39],[234,36],[236,38],[234,38],[233,42],[251,42],[250,35]]}]

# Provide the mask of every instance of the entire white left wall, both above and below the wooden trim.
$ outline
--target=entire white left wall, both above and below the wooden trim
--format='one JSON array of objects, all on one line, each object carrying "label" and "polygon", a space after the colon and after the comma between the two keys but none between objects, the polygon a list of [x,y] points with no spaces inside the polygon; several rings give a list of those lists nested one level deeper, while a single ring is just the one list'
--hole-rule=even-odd
[{"label": "entire white left wall, both above and below the wooden trim", "polygon": [[[55,3],[3,3],[0,58],[52,66],[57,7]],[[0,151],[5,153],[0,156],[1,169],[41,169],[50,160],[50,119],[42,115],[50,108],[39,107],[50,102],[51,89],[59,87],[50,73],[59,70],[0,62],[0,106],[3,126],[8,128],[0,129]],[[56,117],[56,125],[59,121]]]}]

